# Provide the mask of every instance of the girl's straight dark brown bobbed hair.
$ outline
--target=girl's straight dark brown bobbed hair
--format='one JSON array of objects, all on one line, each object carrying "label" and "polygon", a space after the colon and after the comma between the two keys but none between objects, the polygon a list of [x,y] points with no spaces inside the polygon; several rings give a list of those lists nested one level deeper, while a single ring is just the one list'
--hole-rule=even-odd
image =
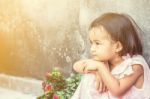
[{"label": "girl's straight dark brown bobbed hair", "polygon": [[128,15],[106,13],[96,18],[91,23],[90,29],[103,26],[114,41],[121,42],[123,50],[120,55],[129,53],[132,56],[143,52],[142,43],[133,22],[134,20]]}]

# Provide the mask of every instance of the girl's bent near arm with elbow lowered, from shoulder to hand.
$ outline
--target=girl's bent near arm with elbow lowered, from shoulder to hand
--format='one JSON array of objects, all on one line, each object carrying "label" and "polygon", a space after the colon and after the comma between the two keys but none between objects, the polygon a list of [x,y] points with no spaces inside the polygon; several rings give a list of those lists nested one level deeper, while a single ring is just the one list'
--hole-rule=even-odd
[{"label": "girl's bent near arm with elbow lowered, from shoulder to hand", "polygon": [[107,86],[108,90],[114,96],[121,96],[128,91],[137,81],[139,77],[143,75],[143,68],[139,64],[132,66],[134,73],[125,76],[122,79],[116,79],[106,68],[105,64],[97,61],[91,61],[89,66],[86,66],[87,71],[97,70],[102,78],[102,81]]}]

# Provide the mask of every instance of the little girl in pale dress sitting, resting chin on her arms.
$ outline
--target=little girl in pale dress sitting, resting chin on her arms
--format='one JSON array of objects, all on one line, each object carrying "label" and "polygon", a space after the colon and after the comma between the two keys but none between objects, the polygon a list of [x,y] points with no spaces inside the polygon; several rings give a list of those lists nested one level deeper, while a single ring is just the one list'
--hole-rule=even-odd
[{"label": "little girl in pale dress sitting, resting chin on her arms", "polygon": [[124,14],[106,13],[92,22],[92,58],[74,64],[74,70],[84,76],[71,99],[150,98],[150,69],[142,56],[138,30]]}]

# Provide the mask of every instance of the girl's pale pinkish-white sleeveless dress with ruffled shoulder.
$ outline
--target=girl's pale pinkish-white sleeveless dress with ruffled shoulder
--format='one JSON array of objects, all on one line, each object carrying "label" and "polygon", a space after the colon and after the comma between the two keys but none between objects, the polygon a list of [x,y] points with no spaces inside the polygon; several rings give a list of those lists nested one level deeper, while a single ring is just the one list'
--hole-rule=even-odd
[{"label": "girl's pale pinkish-white sleeveless dress with ruffled shoulder", "polygon": [[150,69],[141,55],[125,56],[124,61],[116,66],[111,74],[117,79],[133,73],[132,65],[140,64],[144,69],[144,83],[138,89],[132,86],[122,97],[114,97],[109,91],[99,93],[95,88],[95,75],[84,74],[81,82],[71,99],[150,99]]}]

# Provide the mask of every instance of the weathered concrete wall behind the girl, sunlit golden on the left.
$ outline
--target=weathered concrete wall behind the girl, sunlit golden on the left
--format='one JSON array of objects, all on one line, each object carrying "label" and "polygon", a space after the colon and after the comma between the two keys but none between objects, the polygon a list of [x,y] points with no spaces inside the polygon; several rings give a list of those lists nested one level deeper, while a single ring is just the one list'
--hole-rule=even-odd
[{"label": "weathered concrete wall behind the girl, sunlit golden on the left", "polygon": [[88,27],[105,12],[129,14],[141,27],[150,64],[150,0],[0,0],[0,73],[42,80],[70,75],[89,54]]}]

